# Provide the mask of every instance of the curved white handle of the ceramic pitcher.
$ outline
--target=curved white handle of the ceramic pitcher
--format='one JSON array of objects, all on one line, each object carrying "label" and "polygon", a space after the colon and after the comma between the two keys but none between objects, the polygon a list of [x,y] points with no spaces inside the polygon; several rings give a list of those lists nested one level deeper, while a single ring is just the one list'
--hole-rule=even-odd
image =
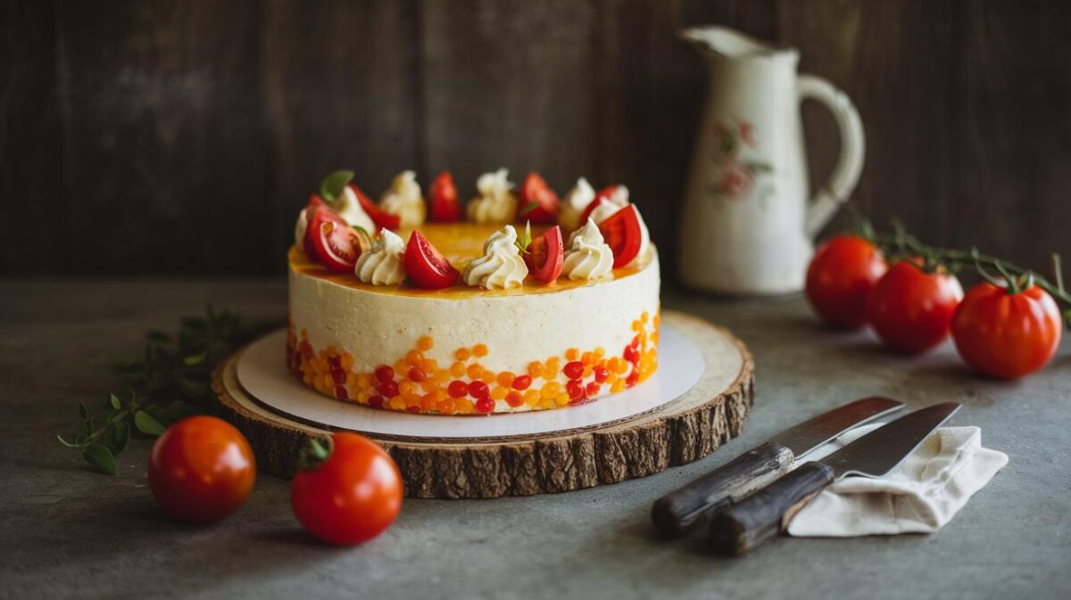
[{"label": "curved white handle of the ceramic pitcher", "polygon": [[806,212],[806,233],[814,237],[851,196],[863,169],[865,141],[859,112],[844,92],[814,75],[800,75],[796,91],[800,101],[816,99],[830,112],[841,130],[841,154],[826,185],[818,188]]}]

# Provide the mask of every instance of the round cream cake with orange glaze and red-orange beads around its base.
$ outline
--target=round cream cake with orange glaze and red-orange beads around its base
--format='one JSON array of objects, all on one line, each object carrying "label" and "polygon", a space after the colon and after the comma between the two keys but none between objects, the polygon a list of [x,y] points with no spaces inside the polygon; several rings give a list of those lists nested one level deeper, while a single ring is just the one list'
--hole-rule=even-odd
[{"label": "round cream cake with orange glaze and red-orange beads around its base", "polygon": [[[435,200],[428,199],[433,218]],[[620,198],[615,202],[615,210],[603,212],[621,210]],[[523,217],[517,203],[511,214]],[[384,198],[379,206],[387,204]],[[378,217],[373,220],[383,218],[365,209]],[[398,212],[404,210],[403,204]],[[559,212],[568,213],[555,211],[555,221]],[[537,226],[523,219],[530,229],[517,234],[525,230],[521,220],[515,226],[455,221],[409,227],[389,221],[396,226],[393,232],[380,228],[374,242],[368,236],[365,247],[355,250],[359,256],[352,271],[343,271],[318,260],[318,250],[303,243],[310,225],[318,222],[303,213],[299,243],[288,256],[290,370],[305,385],[340,400],[447,415],[576,405],[654,373],[660,275],[646,227],[640,251],[627,264],[609,267],[608,259],[598,262],[599,251],[586,245],[590,232],[583,228],[564,250],[549,219],[539,219],[544,224]],[[595,225],[592,219],[591,227]],[[540,274],[553,265],[542,267],[525,256],[537,247],[531,240],[544,237],[559,240],[564,255],[549,280]],[[420,278],[410,262],[412,249],[392,246],[398,239],[409,240],[410,247],[414,239],[429,244],[456,268],[456,280],[436,289],[414,284]],[[509,251],[502,250],[506,242]],[[523,273],[503,266],[513,263],[501,252],[514,250],[528,263]],[[547,262],[555,260],[550,255]],[[593,268],[601,270],[598,277],[588,276]]]}]

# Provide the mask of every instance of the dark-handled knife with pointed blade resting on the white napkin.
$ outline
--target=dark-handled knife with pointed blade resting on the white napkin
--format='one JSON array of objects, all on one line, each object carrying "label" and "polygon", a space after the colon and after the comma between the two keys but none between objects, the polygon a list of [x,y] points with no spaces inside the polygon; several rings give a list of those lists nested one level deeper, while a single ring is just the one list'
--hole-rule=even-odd
[{"label": "dark-handled knife with pointed blade resting on the white napkin", "polygon": [[911,453],[956,411],[957,402],[934,404],[879,427],[820,461],[808,462],[722,510],[710,522],[710,545],[739,556],[788,526],[793,517],[827,486],[849,475],[881,477]]}]

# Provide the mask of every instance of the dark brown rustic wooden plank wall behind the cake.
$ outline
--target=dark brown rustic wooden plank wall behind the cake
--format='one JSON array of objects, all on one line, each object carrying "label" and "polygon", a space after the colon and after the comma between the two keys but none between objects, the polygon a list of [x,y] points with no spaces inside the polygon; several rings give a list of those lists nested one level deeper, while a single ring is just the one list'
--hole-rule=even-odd
[{"label": "dark brown rustic wooden plank wall behind the cake", "polygon": [[[624,182],[673,248],[704,92],[675,32],[705,22],[854,98],[862,213],[1071,255],[1071,2],[4,0],[0,273],[281,273],[341,166],[377,194],[408,167]],[[834,128],[804,117],[818,181]]]}]

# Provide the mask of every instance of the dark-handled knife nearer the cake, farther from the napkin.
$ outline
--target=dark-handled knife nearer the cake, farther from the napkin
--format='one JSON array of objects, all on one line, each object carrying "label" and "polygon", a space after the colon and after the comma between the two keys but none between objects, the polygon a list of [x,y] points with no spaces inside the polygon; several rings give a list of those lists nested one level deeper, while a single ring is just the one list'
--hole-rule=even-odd
[{"label": "dark-handled knife nearer the cake, farther from the napkin", "polygon": [[902,409],[904,404],[872,396],[849,402],[786,429],[695,481],[659,498],[651,507],[654,527],[679,537],[734,501],[784,475],[799,457],[845,431]]}]

